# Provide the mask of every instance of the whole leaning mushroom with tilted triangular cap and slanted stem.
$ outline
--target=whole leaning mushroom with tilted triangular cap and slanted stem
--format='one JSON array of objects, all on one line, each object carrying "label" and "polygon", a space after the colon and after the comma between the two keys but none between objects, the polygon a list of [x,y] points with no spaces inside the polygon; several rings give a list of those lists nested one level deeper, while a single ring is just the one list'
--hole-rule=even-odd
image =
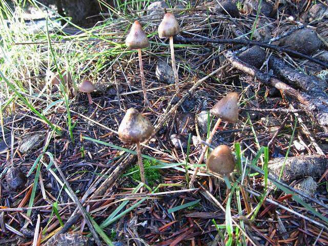
[{"label": "whole leaning mushroom with tilted triangular cap and slanted stem", "polygon": [[[210,133],[209,138],[207,139],[207,143],[211,144],[212,138],[214,136],[214,134],[217,131],[217,128],[219,127],[221,120],[223,119],[224,121],[228,121],[230,123],[236,123],[236,121],[238,120],[238,93],[236,92],[231,92],[228,95],[226,95],[225,97],[223,97],[221,100],[219,100],[214,107],[211,109],[210,111],[213,115],[217,116],[218,119]],[[208,146],[204,146],[200,157],[198,159],[198,163],[197,164],[201,164],[201,162],[203,161],[205,154],[208,150]],[[193,187],[194,181],[196,179],[196,175],[197,172],[199,170],[199,167],[197,167],[195,169],[195,172],[193,174],[193,176],[190,179],[189,182],[189,187]]]}]

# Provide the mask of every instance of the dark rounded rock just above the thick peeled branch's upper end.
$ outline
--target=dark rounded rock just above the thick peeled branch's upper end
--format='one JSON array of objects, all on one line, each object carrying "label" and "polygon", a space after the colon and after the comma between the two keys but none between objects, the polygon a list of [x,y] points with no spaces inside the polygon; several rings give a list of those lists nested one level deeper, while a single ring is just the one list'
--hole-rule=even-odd
[{"label": "dark rounded rock just above the thick peeled branch's upper end", "polygon": [[260,68],[265,60],[265,51],[259,46],[253,46],[241,52],[238,57],[240,60],[252,65],[256,68]]}]

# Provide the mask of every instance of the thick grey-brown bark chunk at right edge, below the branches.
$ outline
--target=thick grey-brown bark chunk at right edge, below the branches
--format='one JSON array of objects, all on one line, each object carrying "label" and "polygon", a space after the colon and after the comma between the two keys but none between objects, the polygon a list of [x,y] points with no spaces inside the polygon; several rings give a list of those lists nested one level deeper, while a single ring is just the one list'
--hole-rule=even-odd
[{"label": "thick grey-brown bark chunk at right edge, below the branches", "polygon": [[[284,157],[269,161],[268,169],[274,177],[279,177]],[[281,180],[291,183],[304,176],[320,177],[328,167],[328,159],[324,155],[303,155],[288,157],[282,172]]]}]

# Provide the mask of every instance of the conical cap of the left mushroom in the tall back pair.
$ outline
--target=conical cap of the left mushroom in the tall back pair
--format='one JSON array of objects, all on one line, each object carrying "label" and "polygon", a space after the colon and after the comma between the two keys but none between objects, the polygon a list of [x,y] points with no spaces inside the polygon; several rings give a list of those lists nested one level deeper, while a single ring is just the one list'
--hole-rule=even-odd
[{"label": "conical cap of the left mushroom in the tall back pair", "polygon": [[125,39],[126,46],[133,50],[133,49],[143,49],[148,47],[148,38],[144,30],[138,20],[136,20],[131,27],[130,33]]}]

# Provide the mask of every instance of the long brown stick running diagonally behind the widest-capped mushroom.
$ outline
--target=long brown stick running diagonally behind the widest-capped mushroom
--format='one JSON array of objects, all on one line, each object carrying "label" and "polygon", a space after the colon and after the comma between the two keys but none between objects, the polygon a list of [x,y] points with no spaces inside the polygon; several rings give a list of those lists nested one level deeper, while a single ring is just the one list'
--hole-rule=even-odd
[{"label": "long brown stick running diagonally behind the widest-capped mushroom", "polygon": [[[191,93],[193,93],[198,86],[200,86],[205,80],[213,76],[214,74],[218,73],[222,69],[226,68],[228,64],[223,65],[222,67],[216,69],[212,73],[208,74],[207,76],[199,79],[195,85],[193,85],[192,88],[189,89],[188,93],[182,96],[182,98],[170,109],[165,113],[159,120],[157,125],[154,127],[153,135],[145,141],[147,143],[152,137],[154,137],[157,132],[163,127],[163,125],[166,123],[166,121],[170,118],[170,116],[177,110],[177,108],[185,101]],[[175,96],[175,95],[173,95]],[[142,147],[144,148],[144,147]],[[142,150],[141,148],[141,150]],[[135,156],[134,155],[128,155],[126,159],[120,163],[116,167],[116,169],[111,173],[111,175],[101,184],[101,186],[96,190],[94,193],[94,196],[101,196],[105,194],[105,192],[113,185],[113,183],[116,181],[116,179],[119,177],[119,175],[124,172],[124,170],[131,165],[135,161]]]}]

